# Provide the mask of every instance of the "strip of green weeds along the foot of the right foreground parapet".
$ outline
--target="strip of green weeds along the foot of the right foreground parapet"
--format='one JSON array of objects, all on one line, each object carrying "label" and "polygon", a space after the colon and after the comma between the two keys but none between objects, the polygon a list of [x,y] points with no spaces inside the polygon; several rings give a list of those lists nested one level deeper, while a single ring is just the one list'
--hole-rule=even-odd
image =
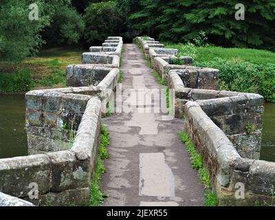
[{"label": "strip of green weeds along the foot of the right foreground parapet", "polygon": [[199,171],[199,179],[203,182],[206,192],[204,194],[204,205],[205,206],[218,206],[218,199],[214,191],[212,190],[210,176],[203,167],[203,159],[199,153],[197,153],[194,144],[190,141],[190,137],[187,133],[180,132],[179,140],[186,144],[186,149],[191,156],[192,168]]}]

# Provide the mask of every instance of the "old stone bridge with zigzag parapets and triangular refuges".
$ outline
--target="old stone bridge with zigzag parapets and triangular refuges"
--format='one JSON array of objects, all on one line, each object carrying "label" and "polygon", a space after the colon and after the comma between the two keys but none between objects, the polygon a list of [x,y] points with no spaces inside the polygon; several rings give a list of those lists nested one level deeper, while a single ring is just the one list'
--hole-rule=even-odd
[{"label": "old stone bridge with zigzag parapets and triangular refuges", "polygon": [[[218,91],[218,69],[193,67],[189,57],[181,57],[186,65],[171,65],[177,50],[150,38],[134,41],[171,89],[175,118],[163,111],[162,87],[137,47],[125,45],[122,54],[122,38],[109,37],[102,47],[83,54],[83,65],[67,67],[67,88],[26,94],[30,155],[0,159],[0,205],[83,205],[90,196],[100,118],[113,100],[116,113],[102,119],[111,140],[102,176],[102,188],[109,193],[105,205],[203,204],[203,186],[177,140],[182,127],[203,155],[220,201],[269,201],[275,163],[259,160],[263,97]],[[70,128],[77,132],[73,141],[67,135]],[[31,183],[39,187],[39,199],[30,199]],[[237,183],[244,184],[245,199],[235,199]]]}]

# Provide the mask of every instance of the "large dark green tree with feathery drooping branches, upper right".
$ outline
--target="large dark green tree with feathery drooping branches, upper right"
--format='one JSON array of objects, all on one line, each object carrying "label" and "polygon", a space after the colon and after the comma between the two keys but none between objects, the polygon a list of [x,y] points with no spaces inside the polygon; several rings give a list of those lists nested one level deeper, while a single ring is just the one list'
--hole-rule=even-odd
[{"label": "large dark green tree with feathery drooping branches, upper right", "polygon": [[245,20],[236,21],[237,0],[140,0],[131,14],[134,27],[163,41],[192,41],[200,31],[211,43],[223,46],[274,48],[274,0],[242,1]]}]

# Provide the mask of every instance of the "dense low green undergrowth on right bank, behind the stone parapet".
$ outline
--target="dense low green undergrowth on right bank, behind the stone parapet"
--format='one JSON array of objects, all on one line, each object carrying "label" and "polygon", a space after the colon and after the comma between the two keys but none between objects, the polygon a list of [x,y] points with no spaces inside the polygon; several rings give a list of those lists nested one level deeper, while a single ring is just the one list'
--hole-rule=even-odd
[{"label": "dense low green undergrowth on right bank, behind the stone parapet", "polygon": [[257,65],[235,59],[214,58],[196,62],[196,66],[220,70],[220,89],[261,94],[265,101],[275,102],[275,64]]}]

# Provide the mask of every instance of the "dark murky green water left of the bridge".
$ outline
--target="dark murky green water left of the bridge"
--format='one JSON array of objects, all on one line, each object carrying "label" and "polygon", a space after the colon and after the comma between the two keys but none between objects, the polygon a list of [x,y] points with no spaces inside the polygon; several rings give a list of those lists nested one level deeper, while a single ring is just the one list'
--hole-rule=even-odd
[{"label": "dark murky green water left of the bridge", "polygon": [[24,95],[0,95],[0,158],[28,155]]}]

